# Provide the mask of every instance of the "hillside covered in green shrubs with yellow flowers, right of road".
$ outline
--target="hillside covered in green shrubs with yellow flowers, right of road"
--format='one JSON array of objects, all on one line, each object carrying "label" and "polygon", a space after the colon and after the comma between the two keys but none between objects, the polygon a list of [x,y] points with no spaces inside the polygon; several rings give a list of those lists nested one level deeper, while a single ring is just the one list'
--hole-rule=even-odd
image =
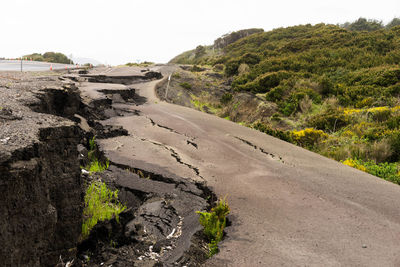
[{"label": "hillside covered in green shrubs with yellow flowers, right of road", "polygon": [[[223,70],[231,92],[217,115],[400,183],[399,24],[360,18],[279,28],[184,63]],[[248,112],[240,95],[269,112],[237,116]]]}]

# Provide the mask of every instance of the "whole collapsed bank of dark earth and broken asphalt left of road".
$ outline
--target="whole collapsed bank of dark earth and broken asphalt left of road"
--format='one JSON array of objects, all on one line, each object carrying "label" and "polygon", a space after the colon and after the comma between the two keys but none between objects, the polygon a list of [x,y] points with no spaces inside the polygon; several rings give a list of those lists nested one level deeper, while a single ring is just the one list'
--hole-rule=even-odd
[{"label": "whole collapsed bank of dark earth and broken asphalt left of road", "polygon": [[[74,260],[74,266],[196,266],[207,259],[195,212],[208,209],[215,195],[173,148],[135,133],[141,127],[171,131],[146,117],[138,123],[136,107],[146,98],[135,93],[135,84],[160,78],[148,69],[124,75],[2,74],[0,265],[64,266]],[[129,129],[115,123],[133,117]],[[81,166],[94,136],[96,154],[110,166],[88,175]],[[190,137],[181,138],[196,149]],[[157,150],[187,175],[160,167],[156,157],[129,157]],[[97,179],[119,190],[127,210],[119,222],[99,223],[82,240],[85,188]]]}]

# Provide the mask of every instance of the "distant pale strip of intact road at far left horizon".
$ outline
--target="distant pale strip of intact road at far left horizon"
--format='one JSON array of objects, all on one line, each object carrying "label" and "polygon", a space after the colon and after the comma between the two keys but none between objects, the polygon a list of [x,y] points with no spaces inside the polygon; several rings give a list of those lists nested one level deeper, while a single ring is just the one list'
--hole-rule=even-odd
[{"label": "distant pale strip of intact road at far left horizon", "polygon": [[[23,71],[48,71],[52,66],[53,70],[61,70],[67,68],[75,68],[75,65],[58,64],[38,61],[22,61]],[[20,60],[0,60],[0,71],[21,71]]]}]

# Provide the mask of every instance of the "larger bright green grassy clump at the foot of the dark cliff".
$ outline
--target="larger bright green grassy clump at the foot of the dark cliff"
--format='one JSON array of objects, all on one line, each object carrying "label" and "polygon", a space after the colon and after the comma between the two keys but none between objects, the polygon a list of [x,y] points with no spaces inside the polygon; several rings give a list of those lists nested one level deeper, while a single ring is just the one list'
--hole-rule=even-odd
[{"label": "larger bright green grassy clump at the foot of the dark cliff", "polygon": [[119,220],[118,215],[126,209],[118,201],[118,190],[112,191],[103,182],[93,182],[86,189],[83,209],[82,238],[89,236],[92,228],[100,221],[110,220],[113,217]]}]

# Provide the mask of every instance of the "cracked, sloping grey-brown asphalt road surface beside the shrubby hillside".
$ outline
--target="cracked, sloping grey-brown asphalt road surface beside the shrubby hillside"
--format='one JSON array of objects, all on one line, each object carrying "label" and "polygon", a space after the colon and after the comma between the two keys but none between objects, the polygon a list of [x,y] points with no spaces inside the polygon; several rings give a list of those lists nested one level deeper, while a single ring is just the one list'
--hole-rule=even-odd
[{"label": "cracked, sloping grey-brown asphalt road surface beside the shrubby hillside", "polygon": [[[156,69],[168,75],[174,67]],[[400,266],[400,186],[161,102],[157,83],[133,85],[147,102],[119,108],[141,115],[106,122],[130,135],[100,144],[113,162],[204,180],[218,196],[227,195],[232,226],[207,266]]]}]

